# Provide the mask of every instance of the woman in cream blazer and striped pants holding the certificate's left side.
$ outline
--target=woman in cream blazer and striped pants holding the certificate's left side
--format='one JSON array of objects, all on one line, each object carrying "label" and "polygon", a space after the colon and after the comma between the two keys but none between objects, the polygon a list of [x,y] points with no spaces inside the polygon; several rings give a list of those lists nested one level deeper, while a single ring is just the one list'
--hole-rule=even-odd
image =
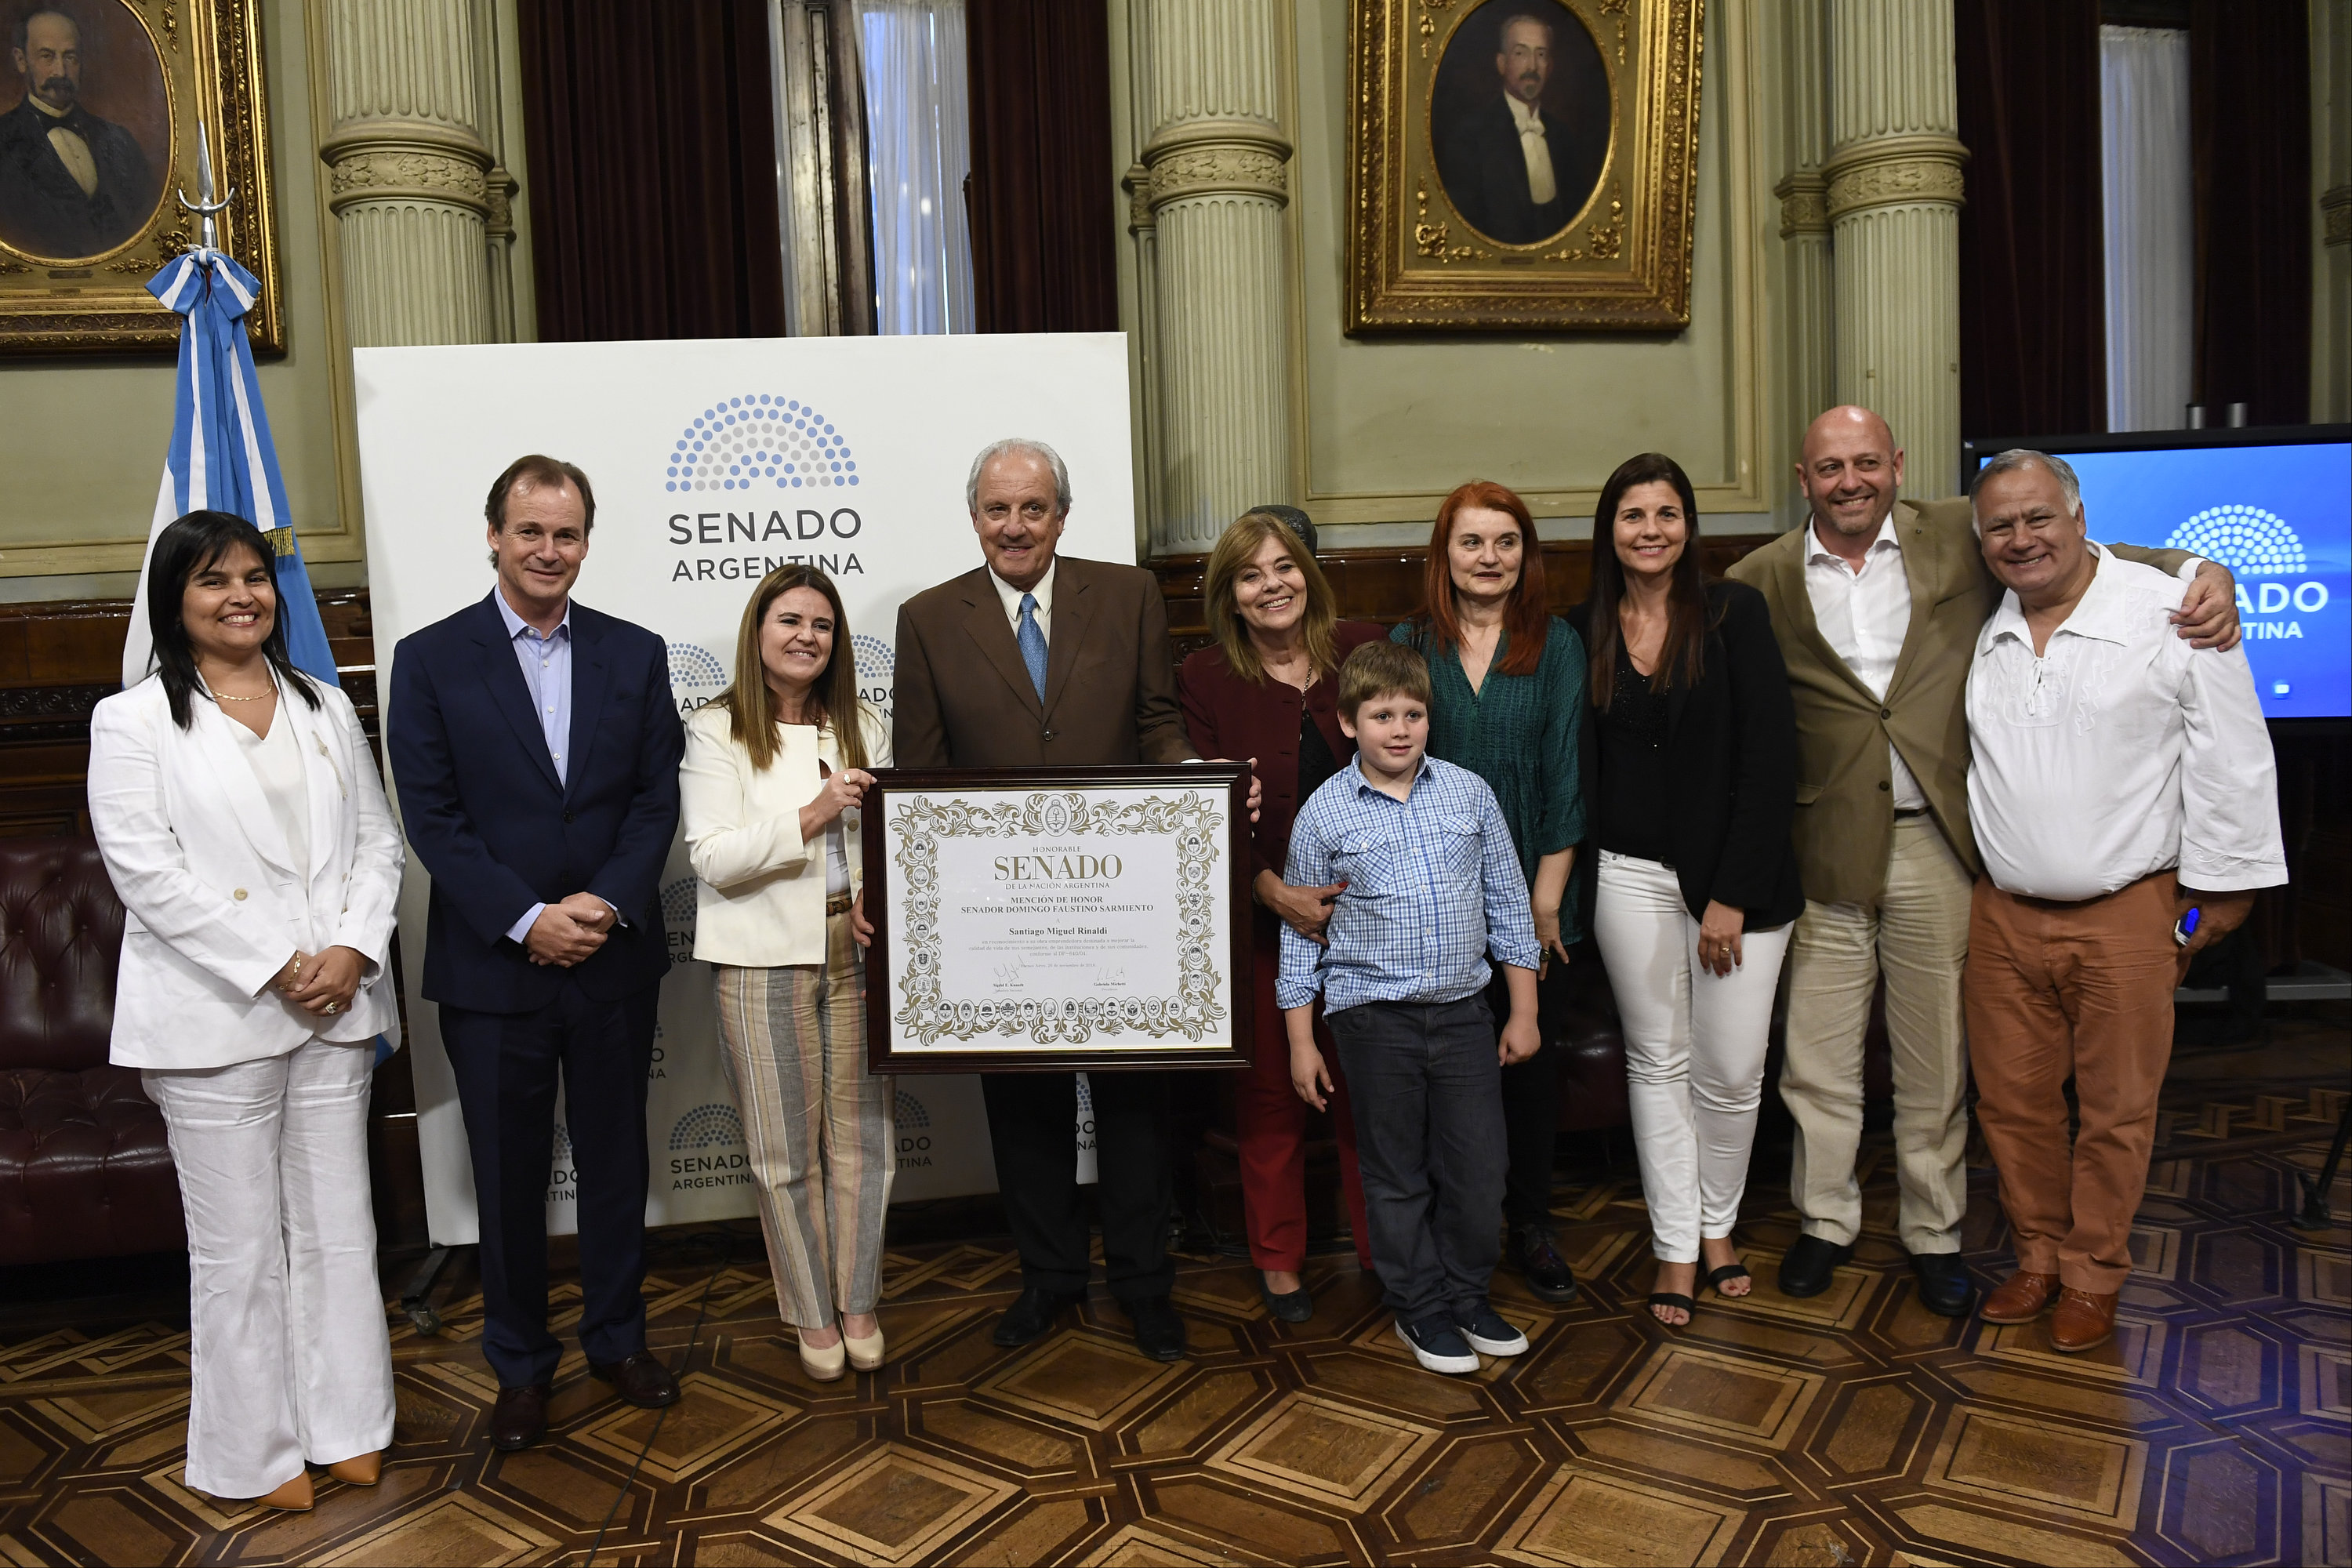
[{"label": "woman in cream blazer and striped pants holding the certificate's left side", "polygon": [[734,684],[687,722],[694,957],[717,973],[776,1307],[816,1380],[882,1366],[891,1086],[866,1070],[858,802],[889,726],[858,701],[833,581],[781,567],[743,607]]}]

